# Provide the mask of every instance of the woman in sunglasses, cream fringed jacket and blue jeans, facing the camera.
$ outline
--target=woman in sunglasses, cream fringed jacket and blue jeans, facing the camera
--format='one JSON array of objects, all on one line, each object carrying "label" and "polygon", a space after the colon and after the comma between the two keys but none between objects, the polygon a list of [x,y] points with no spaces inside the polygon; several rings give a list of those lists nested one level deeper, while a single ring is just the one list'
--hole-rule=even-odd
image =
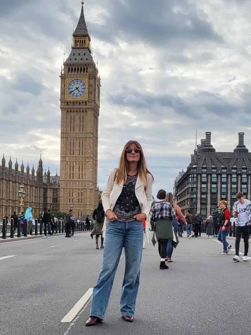
[{"label": "woman in sunglasses, cream fringed jacket and blue jeans, facing the camera", "polygon": [[118,168],[110,173],[102,193],[105,211],[103,232],[106,233],[103,263],[93,288],[90,318],[86,326],[94,326],[104,319],[123,246],[126,268],[120,311],[125,321],[134,320],[143,246],[142,220],[146,219],[146,237],[149,239],[152,184],[153,176],[147,169],[140,143],[127,142]]}]

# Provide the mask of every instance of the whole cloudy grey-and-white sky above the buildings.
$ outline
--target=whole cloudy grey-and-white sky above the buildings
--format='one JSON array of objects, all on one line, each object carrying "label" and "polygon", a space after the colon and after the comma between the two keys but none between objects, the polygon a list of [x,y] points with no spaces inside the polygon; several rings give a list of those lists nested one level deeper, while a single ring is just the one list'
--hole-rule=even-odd
[{"label": "whole cloudy grey-and-white sky above the buildings", "polygon": [[[159,188],[171,191],[198,140],[212,131],[251,149],[249,0],[85,0],[102,81],[98,184],[139,140]],[[4,1],[0,11],[0,148],[59,172],[60,70],[80,0]]]}]

